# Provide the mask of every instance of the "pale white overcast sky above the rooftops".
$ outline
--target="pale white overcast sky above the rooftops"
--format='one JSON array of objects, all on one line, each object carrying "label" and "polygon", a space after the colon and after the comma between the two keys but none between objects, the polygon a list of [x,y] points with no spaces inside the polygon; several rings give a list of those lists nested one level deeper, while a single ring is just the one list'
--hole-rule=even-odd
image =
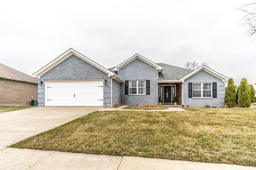
[{"label": "pale white overcast sky above the rooftops", "polygon": [[249,0],[12,0],[0,5],[0,63],[32,75],[69,48],[114,67],[138,53],[183,67],[206,62],[256,82],[256,41],[236,7]]}]

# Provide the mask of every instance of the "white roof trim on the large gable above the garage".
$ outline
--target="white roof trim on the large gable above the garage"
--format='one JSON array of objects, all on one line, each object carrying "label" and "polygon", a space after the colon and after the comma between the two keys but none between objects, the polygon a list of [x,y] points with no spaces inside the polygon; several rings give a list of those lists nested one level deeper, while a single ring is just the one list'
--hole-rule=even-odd
[{"label": "white roof trim on the large gable above the garage", "polygon": [[118,83],[123,83],[123,81],[116,75],[116,73],[106,69],[105,67],[102,67],[98,63],[92,61],[91,59],[87,58],[86,56],[82,55],[81,53],[77,52],[72,48],[68,49],[68,51],[64,52],[62,55],[60,55],[59,57],[57,57],[56,59],[48,63],[42,69],[36,71],[36,73],[34,73],[32,77],[40,78],[41,75],[43,75],[44,73],[46,73],[47,71],[49,71],[50,69],[52,69],[53,67],[55,67],[56,65],[58,65],[59,63],[61,63],[62,61],[64,61],[65,59],[67,59],[73,54],[79,57],[80,59],[86,61],[87,63],[93,65],[94,67],[98,68],[99,70],[103,71],[104,73],[108,74],[108,77],[114,78]]}]

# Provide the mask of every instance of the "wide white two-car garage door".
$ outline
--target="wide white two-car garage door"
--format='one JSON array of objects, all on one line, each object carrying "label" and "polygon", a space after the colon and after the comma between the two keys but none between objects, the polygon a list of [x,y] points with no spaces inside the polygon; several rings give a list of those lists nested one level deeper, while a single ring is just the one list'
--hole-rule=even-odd
[{"label": "wide white two-car garage door", "polygon": [[103,80],[46,81],[46,106],[103,106]]}]

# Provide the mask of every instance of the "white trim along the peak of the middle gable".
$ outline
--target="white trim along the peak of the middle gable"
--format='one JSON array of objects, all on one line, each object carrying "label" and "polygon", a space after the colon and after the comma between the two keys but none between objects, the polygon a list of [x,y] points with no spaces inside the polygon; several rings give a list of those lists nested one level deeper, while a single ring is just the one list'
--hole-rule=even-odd
[{"label": "white trim along the peak of the middle gable", "polygon": [[140,54],[135,54],[132,57],[130,57],[129,59],[127,59],[126,61],[124,61],[123,63],[121,63],[120,65],[114,67],[112,70],[113,71],[119,71],[120,68],[124,67],[125,65],[127,65],[128,63],[132,62],[134,59],[140,59],[142,61],[144,61],[145,63],[148,63],[149,65],[151,65],[152,67],[155,67],[156,70],[158,70],[159,73],[162,72],[162,67],[152,61],[150,61],[149,59],[146,59],[145,57],[141,56]]}]

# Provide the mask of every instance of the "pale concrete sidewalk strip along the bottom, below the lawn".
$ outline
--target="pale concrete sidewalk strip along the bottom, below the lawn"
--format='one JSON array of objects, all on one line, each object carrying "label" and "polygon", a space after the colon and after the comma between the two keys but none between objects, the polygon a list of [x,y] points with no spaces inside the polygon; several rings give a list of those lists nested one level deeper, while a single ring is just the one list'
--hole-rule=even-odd
[{"label": "pale concrete sidewalk strip along the bottom, below the lawn", "polygon": [[6,148],[1,170],[255,170],[230,164]]}]

